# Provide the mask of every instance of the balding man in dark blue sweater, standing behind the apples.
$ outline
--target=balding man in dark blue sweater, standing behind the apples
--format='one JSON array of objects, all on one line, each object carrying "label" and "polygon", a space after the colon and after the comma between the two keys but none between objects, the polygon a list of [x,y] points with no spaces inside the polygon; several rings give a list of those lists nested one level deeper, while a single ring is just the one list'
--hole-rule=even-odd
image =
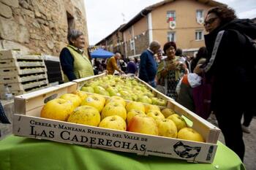
[{"label": "balding man in dark blue sweater, standing behind the apples", "polygon": [[157,61],[154,59],[154,54],[158,53],[161,45],[157,41],[150,43],[147,50],[140,55],[139,78],[153,88],[156,88],[155,77],[157,74]]}]

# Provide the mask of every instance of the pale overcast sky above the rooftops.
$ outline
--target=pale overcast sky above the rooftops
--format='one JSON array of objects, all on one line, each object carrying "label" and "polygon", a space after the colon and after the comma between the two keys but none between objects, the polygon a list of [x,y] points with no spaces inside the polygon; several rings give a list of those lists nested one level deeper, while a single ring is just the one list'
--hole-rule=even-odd
[{"label": "pale overcast sky above the rooftops", "polygon": [[[162,0],[84,0],[89,45],[95,45],[127,23],[142,9]],[[256,18],[255,0],[216,0],[236,11],[238,18]]]}]

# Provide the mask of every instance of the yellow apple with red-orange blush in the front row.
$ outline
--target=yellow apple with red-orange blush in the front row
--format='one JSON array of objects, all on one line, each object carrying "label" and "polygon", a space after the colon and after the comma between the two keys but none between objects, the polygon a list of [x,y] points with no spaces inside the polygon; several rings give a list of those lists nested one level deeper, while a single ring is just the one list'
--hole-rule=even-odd
[{"label": "yellow apple with red-orange blush in the front row", "polygon": [[157,122],[154,118],[147,115],[136,115],[129,120],[127,131],[158,135]]}]

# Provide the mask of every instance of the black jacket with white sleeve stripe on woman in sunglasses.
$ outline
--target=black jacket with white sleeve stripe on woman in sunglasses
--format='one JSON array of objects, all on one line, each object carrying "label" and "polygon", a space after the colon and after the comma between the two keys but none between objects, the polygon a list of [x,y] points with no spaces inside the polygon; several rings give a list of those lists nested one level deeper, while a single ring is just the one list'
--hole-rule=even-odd
[{"label": "black jacket with white sleeve stripe on woman in sunglasses", "polygon": [[215,39],[222,30],[225,30],[225,33],[216,58],[211,69],[206,72],[208,80],[213,82],[211,104],[214,110],[222,109],[227,102],[233,103],[233,106],[241,106],[238,109],[244,109],[247,102],[246,90],[250,84],[247,80],[246,63],[250,62],[252,56],[247,53],[249,42],[242,34],[256,39],[256,24],[251,20],[236,19],[205,35],[208,58],[211,58]]}]

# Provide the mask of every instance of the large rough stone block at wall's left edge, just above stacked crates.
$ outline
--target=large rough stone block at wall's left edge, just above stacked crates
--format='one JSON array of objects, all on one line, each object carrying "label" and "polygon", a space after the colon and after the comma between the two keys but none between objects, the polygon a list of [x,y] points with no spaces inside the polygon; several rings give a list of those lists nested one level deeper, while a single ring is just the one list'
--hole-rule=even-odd
[{"label": "large rough stone block at wall's left edge, just above stacked crates", "polygon": [[29,42],[29,31],[14,20],[0,17],[0,37],[15,42]]}]

